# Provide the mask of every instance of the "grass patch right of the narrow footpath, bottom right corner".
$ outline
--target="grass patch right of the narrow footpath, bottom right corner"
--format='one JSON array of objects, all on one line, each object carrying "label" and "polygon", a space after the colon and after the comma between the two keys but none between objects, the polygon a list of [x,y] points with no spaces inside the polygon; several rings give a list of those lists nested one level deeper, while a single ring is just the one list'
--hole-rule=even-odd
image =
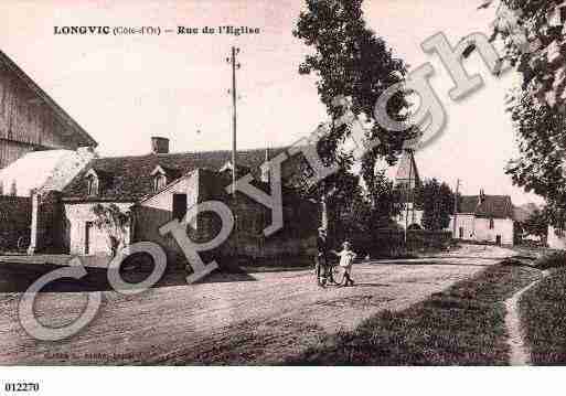
[{"label": "grass patch right of the narrow footpath, bottom right corner", "polygon": [[519,309],[532,364],[566,364],[566,269],[527,290]]}]

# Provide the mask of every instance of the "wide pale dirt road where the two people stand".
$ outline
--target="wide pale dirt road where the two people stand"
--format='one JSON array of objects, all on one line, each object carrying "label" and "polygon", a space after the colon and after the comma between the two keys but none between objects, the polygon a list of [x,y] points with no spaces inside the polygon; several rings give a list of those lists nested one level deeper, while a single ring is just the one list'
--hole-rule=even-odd
[{"label": "wide pale dirt road where the two people stand", "polygon": [[[269,364],[352,329],[380,310],[404,309],[470,277],[510,250],[467,246],[415,260],[357,264],[351,288],[318,288],[312,271],[215,274],[206,282],[138,296],[104,292],[98,317],[61,342],[30,338],[18,321],[20,293],[0,293],[0,364]],[[86,301],[44,292],[40,320],[63,325]]]}]

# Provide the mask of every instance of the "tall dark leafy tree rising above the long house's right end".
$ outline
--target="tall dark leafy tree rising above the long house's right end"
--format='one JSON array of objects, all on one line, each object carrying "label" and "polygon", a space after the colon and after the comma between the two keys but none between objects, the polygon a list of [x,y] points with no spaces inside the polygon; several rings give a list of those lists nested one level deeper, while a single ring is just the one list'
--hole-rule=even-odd
[{"label": "tall dark leafy tree rising above the long house's right end", "polygon": [[[337,162],[341,171],[327,178],[314,195],[322,197],[343,189],[343,175],[351,171],[353,159],[340,150],[350,135],[346,126],[334,128],[334,120],[343,108],[333,106],[339,96],[352,98],[352,111],[373,120],[373,108],[380,95],[393,84],[403,81],[406,67],[394,58],[385,41],[365,25],[362,0],[307,0],[307,8],[299,15],[293,35],[301,39],[313,53],[299,66],[300,74],[316,74],[321,101],[332,119],[330,132],[318,142],[322,160]],[[408,105],[403,94],[389,100],[389,115],[406,119]],[[371,122],[370,122],[371,124]],[[380,145],[370,150],[362,161],[362,176],[373,183],[375,161],[385,157],[393,163],[401,153],[403,141],[410,132],[389,132],[373,122],[367,138],[378,138]]]}]

